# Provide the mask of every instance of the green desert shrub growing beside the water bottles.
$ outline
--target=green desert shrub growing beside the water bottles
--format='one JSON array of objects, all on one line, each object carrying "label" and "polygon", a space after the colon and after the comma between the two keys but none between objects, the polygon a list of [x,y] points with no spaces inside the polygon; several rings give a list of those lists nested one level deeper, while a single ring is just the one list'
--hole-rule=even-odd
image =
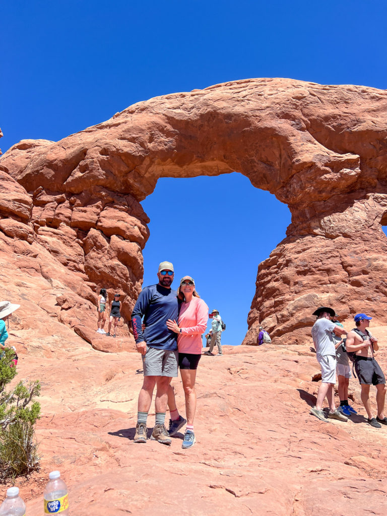
[{"label": "green desert shrub growing beside the water bottles", "polygon": [[6,348],[0,353],[0,481],[4,482],[38,468],[35,425],[40,404],[35,398],[40,394],[40,384],[21,381],[6,391],[17,372],[11,367],[13,351]]}]

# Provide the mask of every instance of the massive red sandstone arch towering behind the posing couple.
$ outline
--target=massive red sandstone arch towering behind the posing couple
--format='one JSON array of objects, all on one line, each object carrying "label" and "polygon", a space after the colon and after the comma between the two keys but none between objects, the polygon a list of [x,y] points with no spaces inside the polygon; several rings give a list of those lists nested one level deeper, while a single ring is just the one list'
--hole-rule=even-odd
[{"label": "massive red sandstone arch towering behind the posing couple", "polygon": [[22,140],[0,165],[33,197],[33,237],[78,246],[58,259],[89,282],[116,282],[126,316],[149,236],[139,201],[157,179],[243,173],[292,213],[259,266],[244,343],[261,320],[276,343],[297,344],[319,303],[344,319],[385,317],[386,113],[382,90],[249,79],[141,102],[59,142]]}]

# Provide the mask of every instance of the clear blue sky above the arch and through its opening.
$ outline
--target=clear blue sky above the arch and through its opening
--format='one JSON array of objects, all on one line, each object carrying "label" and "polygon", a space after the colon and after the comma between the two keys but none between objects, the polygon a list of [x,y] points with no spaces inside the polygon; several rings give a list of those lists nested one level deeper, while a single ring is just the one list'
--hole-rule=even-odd
[{"label": "clear blue sky above the arch and through its opening", "polygon": [[[135,102],[234,79],[385,89],[386,14],[374,0],[3,3],[0,147],[59,140]],[[144,284],[159,261],[173,261],[176,277],[192,275],[220,311],[223,343],[239,344],[257,266],[284,238],[287,206],[237,173],[159,180],[143,206],[151,218]]]}]

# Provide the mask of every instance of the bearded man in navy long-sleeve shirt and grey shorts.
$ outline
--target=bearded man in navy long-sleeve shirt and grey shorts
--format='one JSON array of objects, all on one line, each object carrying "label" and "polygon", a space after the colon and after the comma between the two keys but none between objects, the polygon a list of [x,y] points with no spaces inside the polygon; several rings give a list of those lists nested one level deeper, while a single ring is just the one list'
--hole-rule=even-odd
[{"label": "bearded man in navy long-sleeve shirt and grey shorts", "polygon": [[[173,265],[162,262],[158,267],[158,283],[145,287],[132,312],[133,334],[136,348],[142,356],[144,381],[138,396],[135,443],[147,441],[147,417],[156,385],[156,422],[152,439],[171,444],[165,427],[168,386],[172,377],[178,376],[178,334],[169,330],[167,320],[178,320],[177,292],[171,289]],[[145,326],[142,332],[142,323]]]}]

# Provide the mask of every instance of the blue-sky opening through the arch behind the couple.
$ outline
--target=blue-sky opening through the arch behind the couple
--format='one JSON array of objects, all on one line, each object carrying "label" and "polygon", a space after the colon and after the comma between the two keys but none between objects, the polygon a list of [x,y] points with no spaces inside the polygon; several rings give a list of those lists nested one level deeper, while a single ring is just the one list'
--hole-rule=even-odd
[{"label": "blue-sky opening through the arch behind the couple", "polygon": [[257,266],[286,236],[288,207],[237,172],[162,178],[141,204],[150,218],[143,285],[155,282],[159,261],[172,261],[174,288],[184,275],[195,278],[209,309],[217,308],[227,323],[223,344],[240,344]]}]

